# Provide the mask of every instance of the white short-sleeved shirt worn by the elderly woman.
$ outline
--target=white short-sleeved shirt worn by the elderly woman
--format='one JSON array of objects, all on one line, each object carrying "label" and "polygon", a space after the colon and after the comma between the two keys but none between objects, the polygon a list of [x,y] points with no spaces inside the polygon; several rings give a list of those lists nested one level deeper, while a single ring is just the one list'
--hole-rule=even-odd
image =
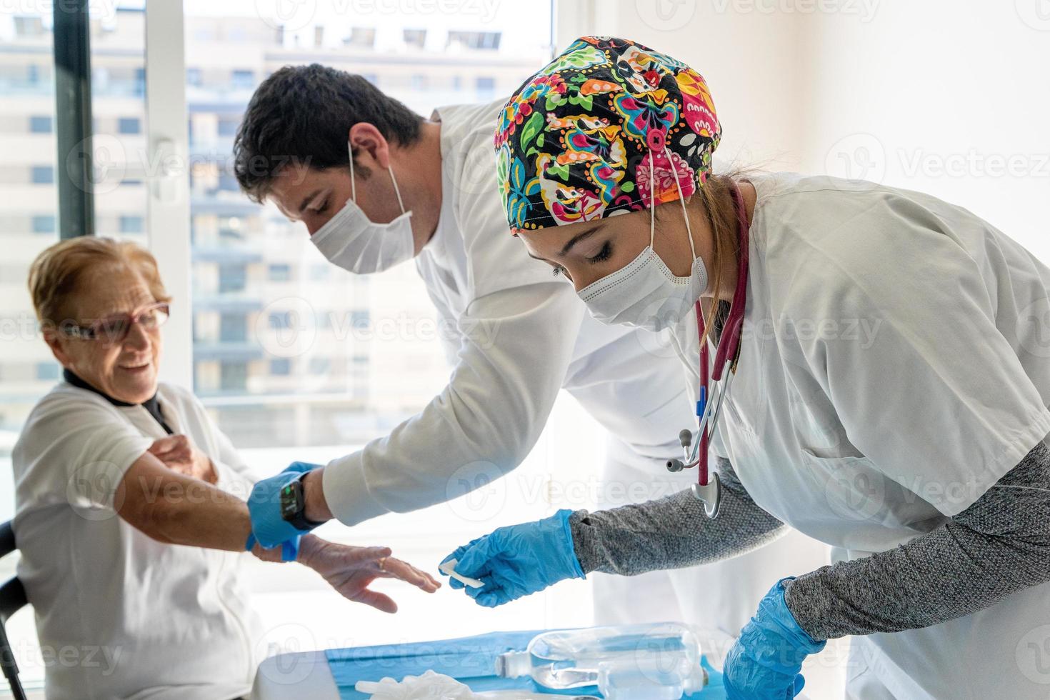
[{"label": "white short-sleeved shirt worn by the elderly woman", "polygon": [[[158,400],[168,426],[211,458],[216,486],[247,499],[255,478],[200,401],[168,384]],[[261,627],[238,582],[251,555],[165,545],[117,515],[118,484],[165,434],[144,407],[63,382],[15,445],[18,575],[50,700],[229,700],[251,690]]]}]

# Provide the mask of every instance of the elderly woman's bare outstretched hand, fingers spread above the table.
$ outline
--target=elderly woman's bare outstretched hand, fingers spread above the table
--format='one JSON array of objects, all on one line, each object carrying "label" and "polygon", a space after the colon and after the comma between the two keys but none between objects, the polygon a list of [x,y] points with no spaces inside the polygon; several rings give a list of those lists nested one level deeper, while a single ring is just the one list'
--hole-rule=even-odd
[{"label": "elderly woman's bare outstretched hand, fingers spread above the table", "polygon": [[[278,547],[262,549],[256,545],[252,552],[260,559],[280,560]],[[303,535],[297,560],[319,573],[342,597],[384,613],[396,613],[397,603],[388,595],[369,590],[369,585],[377,578],[400,578],[426,593],[441,588],[429,574],[392,557],[387,547],[351,547]]]}]

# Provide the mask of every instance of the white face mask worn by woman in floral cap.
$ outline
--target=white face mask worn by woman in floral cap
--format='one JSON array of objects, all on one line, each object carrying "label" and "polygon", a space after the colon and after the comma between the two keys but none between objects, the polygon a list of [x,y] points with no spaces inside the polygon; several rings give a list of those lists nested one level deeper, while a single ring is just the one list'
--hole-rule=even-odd
[{"label": "white face mask worn by woman in floral cap", "polygon": [[[667,153],[666,146],[664,152]],[[670,160],[668,155],[668,161]],[[686,198],[681,196],[678,174],[673,168],[671,172],[678,188],[678,201],[681,203],[681,213],[686,217],[689,249],[693,252],[692,273],[689,277],[675,276],[653,250],[656,216],[652,171],[653,168],[650,168],[649,247],[625,267],[578,293],[591,316],[603,323],[663,331],[677,324],[708,289],[708,269],[704,259],[696,254],[693,231],[689,228],[689,215],[686,213]]]}]

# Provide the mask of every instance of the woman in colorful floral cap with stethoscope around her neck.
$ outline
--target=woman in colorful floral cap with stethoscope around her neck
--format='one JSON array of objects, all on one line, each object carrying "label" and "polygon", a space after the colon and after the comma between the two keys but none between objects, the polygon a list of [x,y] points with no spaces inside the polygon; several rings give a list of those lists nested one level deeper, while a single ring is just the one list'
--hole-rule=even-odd
[{"label": "woman in colorful floral cap with stethoscope around her neck", "polygon": [[773,586],[730,698],[793,697],[845,635],[850,698],[1046,698],[1050,270],[917,192],[714,174],[720,133],[698,73],[622,39],[578,40],[508,101],[510,227],[600,320],[669,331],[698,413],[670,464],[697,485],[500,528],[448,557],[484,582],[467,594],[711,561],[790,526],[836,563]]}]

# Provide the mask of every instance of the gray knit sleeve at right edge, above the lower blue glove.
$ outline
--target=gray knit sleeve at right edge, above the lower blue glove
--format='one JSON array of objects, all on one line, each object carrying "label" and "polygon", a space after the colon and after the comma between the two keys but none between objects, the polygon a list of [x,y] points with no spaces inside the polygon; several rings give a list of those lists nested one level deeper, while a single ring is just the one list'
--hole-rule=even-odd
[{"label": "gray knit sleeve at right edge, above the lower blue glove", "polygon": [[814,639],[925,628],[1050,581],[1050,449],[1035,446],[972,506],[887,552],[785,585]]}]

